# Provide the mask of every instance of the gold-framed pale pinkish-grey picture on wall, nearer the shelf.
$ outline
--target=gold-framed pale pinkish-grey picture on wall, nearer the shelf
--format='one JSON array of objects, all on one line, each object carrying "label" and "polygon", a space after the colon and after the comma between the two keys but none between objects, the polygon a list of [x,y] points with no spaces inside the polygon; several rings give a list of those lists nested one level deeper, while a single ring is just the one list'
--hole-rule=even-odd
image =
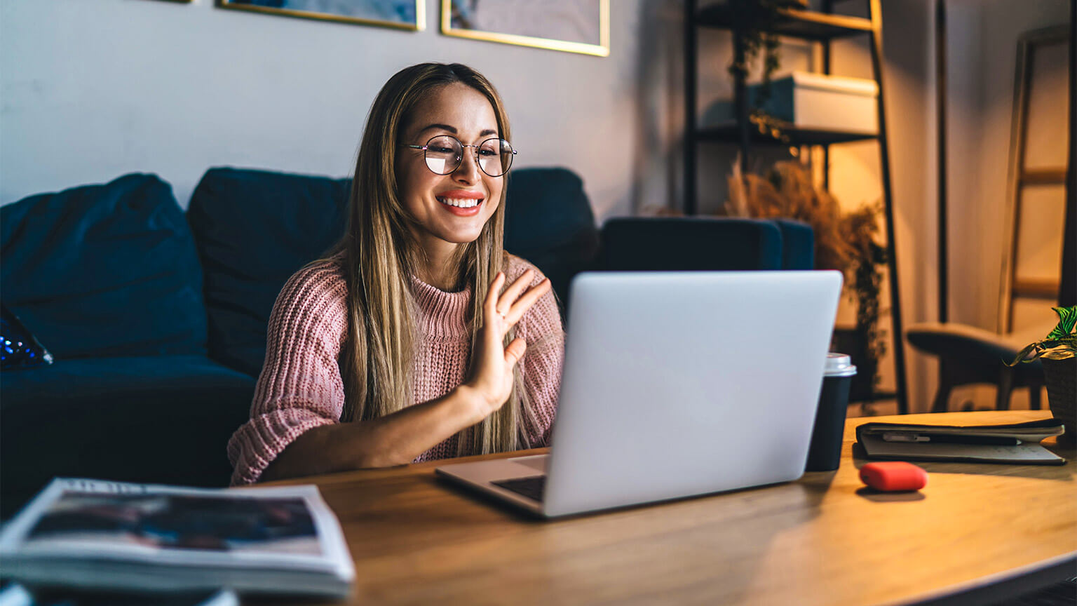
[{"label": "gold-framed pale pinkish-grey picture on wall, nearer the shelf", "polygon": [[442,0],[442,33],[610,56],[610,0]]}]

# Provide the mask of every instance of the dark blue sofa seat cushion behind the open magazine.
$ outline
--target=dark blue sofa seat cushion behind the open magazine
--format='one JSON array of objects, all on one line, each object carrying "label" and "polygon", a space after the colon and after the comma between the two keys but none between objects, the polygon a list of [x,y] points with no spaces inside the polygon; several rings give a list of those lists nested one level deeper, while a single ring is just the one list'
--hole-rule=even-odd
[{"label": "dark blue sofa seat cushion behind the open magazine", "polygon": [[58,359],[2,381],[4,518],[56,476],[226,486],[254,395],[205,356]]}]

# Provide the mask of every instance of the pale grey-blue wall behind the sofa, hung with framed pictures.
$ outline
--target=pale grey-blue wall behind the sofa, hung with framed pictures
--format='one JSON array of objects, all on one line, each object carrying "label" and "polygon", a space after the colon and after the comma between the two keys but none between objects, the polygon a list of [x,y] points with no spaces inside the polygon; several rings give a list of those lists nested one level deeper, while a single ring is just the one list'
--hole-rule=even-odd
[{"label": "pale grey-blue wall behind the sofa, hung with framed pictures", "polygon": [[0,204],[151,171],[186,206],[210,166],[342,176],[378,88],[426,60],[500,89],[518,166],[563,165],[597,215],[631,211],[642,0],[615,0],[609,58],[453,39],[425,0],[420,32],[228,11],[211,0],[4,0]]}]

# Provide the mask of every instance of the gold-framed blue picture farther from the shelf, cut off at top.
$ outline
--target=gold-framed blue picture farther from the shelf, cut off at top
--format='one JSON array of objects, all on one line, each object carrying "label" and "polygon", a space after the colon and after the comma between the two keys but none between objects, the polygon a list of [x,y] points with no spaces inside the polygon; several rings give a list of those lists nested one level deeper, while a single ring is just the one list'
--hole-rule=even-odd
[{"label": "gold-framed blue picture farther from the shelf, cut off at top", "polygon": [[[216,0],[216,6],[219,9],[229,9],[234,11],[249,11],[252,13],[347,23],[352,25],[370,25],[376,27],[388,27],[391,29],[403,29],[407,31],[422,31],[426,29],[426,3],[424,0],[356,0],[353,8],[354,10],[351,13],[327,13],[304,9],[303,6],[310,1],[311,0]],[[370,6],[370,4],[374,4],[375,6]],[[379,4],[380,6],[378,6]],[[384,18],[384,15],[392,12],[394,8],[402,9],[411,6],[414,6],[414,18],[408,18],[408,15],[404,15],[404,18],[398,20]]]}]

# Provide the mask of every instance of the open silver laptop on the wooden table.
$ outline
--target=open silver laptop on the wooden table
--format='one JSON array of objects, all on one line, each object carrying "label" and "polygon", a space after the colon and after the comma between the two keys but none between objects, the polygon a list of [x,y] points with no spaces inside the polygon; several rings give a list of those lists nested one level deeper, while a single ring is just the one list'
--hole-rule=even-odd
[{"label": "open silver laptop on the wooden table", "polygon": [[579,274],[549,454],[436,473],[545,518],[796,480],[840,291],[825,271]]}]

